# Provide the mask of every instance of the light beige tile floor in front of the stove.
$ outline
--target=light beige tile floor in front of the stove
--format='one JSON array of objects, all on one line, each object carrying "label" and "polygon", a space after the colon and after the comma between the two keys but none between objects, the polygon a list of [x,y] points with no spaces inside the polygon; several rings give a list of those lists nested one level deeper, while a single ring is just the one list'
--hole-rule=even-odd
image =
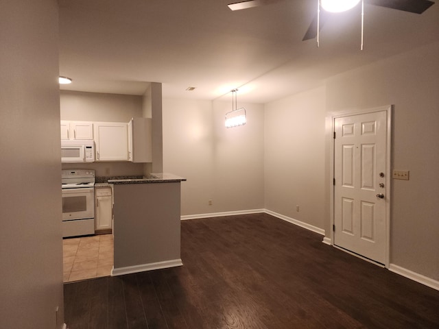
[{"label": "light beige tile floor in front of the stove", "polygon": [[64,282],[72,282],[111,273],[114,253],[112,234],[62,240]]}]

